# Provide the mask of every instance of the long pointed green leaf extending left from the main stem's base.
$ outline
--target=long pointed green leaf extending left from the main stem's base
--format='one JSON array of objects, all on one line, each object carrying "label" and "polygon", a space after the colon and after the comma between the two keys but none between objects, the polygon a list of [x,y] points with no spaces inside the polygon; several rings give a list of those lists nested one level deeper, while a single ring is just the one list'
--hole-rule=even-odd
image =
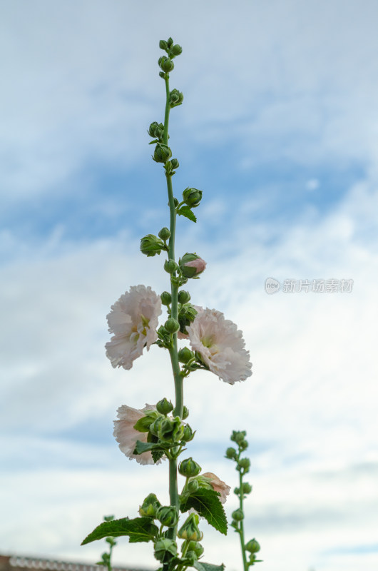
[{"label": "long pointed green leaf extending left from the main stem's base", "polygon": [[81,545],[102,540],[108,535],[112,535],[113,537],[128,535],[128,540],[131,543],[150,541],[157,535],[158,531],[158,527],[151,522],[150,517],[135,517],[133,520],[129,520],[128,517],[123,517],[121,520],[101,523],[93,532],[87,535]]}]

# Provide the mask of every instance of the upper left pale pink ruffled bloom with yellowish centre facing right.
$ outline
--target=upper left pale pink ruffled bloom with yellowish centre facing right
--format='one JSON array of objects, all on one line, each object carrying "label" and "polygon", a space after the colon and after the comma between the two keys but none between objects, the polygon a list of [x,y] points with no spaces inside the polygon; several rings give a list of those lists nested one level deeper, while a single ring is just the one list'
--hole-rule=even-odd
[{"label": "upper left pale pink ruffled bloom with yellowish centre facing right", "polygon": [[114,333],[106,343],[106,356],[114,368],[131,369],[133,360],[140,357],[143,348],[158,338],[158,316],[161,300],[150,286],[132,285],[130,291],[121,295],[114,305],[108,320],[109,332]]}]

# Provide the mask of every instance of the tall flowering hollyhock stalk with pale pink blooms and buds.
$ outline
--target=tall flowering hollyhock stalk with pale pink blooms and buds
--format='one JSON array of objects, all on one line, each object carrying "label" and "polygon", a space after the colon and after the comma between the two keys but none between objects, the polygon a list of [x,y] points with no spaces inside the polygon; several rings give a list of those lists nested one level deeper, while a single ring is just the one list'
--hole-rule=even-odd
[{"label": "tall flowering hollyhock stalk with pale pink blooms and buds", "polygon": [[[179,218],[184,223],[195,223],[193,208],[198,208],[203,191],[188,186],[178,198],[173,193],[173,176],[180,164],[173,156],[168,133],[170,110],[183,103],[183,94],[178,89],[170,90],[170,72],[173,59],[181,54],[181,47],[172,38],[160,41],[160,49],[166,55],[158,60],[159,76],[165,83],[164,123],[153,121],[148,135],[153,138],[153,161],[163,167],[167,184],[169,228],[151,228],[152,232],[141,238],[141,253],[148,258],[162,256],[162,266],[169,276],[169,291],[160,295],[145,285],[133,285],[130,290],[111,306],[108,327],[113,334],[106,343],[106,355],[114,368],[131,369],[133,361],[143,354],[143,349],[152,344],[169,355],[173,375],[174,403],[169,395],[154,406],[118,408],[114,422],[114,436],[119,448],[130,460],[141,465],[159,464],[168,461],[169,505],[162,505],[155,493],[150,492],[140,502],[139,517],[123,517],[98,525],[83,541],[83,544],[103,537],[116,535],[129,537],[130,542],[151,542],[153,554],[159,562],[159,571],[224,571],[223,565],[213,565],[200,560],[203,532],[199,530],[200,518],[205,518],[215,530],[227,534],[228,522],[223,504],[230,492],[213,472],[201,474],[202,468],[181,455],[195,438],[195,430],[186,421],[189,415],[184,405],[185,379],[198,369],[210,370],[226,383],[233,385],[251,375],[249,353],[245,350],[242,333],[223,313],[203,309],[191,303],[189,291],[183,286],[198,279],[206,268],[206,262],[193,253],[193,249],[175,254],[175,234]],[[162,198],[166,203],[166,198]],[[152,207],[149,205],[149,207]],[[158,323],[165,306],[165,322]],[[178,339],[185,345],[178,348]],[[159,375],[159,385],[166,375]],[[163,380],[160,380],[163,379]],[[201,398],[198,390],[198,400]],[[210,404],[210,403],[209,403]],[[184,422],[185,421],[185,422]],[[154,481],[151,478],[152,482]],[[141,567],[145,565],[141,562]]]}]

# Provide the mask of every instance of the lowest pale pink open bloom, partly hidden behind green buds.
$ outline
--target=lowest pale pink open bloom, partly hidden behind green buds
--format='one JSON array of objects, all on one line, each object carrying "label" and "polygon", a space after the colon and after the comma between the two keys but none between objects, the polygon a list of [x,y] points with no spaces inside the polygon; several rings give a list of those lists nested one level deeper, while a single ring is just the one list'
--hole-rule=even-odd
[{"label": "lowest pale pink open bloom, partly hidden behind green buds", "polygon": [[[141,410],[138,408],[131,408],[128,405],[122,405],[117,410],[119,420],[114,420],[113,436],[118,442],[118,447],[130,460],[134,458],[139,464],[154,464],[152,454],[150,452],[143,452],[143,454],[133,454],[136,448],[136,441],[147,442],[148,433],[140,433],[134,428],[136,422],[143,418],[146,410],[156,410],[155,405],[145,405]],[[160,464],[158,460],[156,464]]]}]

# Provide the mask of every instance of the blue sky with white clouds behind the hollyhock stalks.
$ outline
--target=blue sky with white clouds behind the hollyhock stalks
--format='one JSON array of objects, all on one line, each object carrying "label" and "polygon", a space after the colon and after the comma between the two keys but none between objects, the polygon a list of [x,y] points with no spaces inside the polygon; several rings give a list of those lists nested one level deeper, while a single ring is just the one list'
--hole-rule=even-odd
[{"label": "blue sky with white clouds behind the hollyhock stalks", "polygon": [[[130,285],[168,287],[139,240],[168,223],[146,129],[171,86],[175,191],[203,189],[177,253],[208,262],[194,303],[243,330],[252,378],[185,387],[191,453],[235,485],[223,450],[247,430],[247,529],[265,571],[375,571],[378,9],[342,1],[66,1],[0,9],[1,552],[93,562],[102,515],[167,495],[165,468],[119,452],[121,404],[172,396],[157,348],[129,372],[104,355]],[[265,279],[352,279],[352,293],[267,295]],[[138,498],[138,499],[136,499]],[[228,513],[235,502],[228,502]],[[237,537],[206,559],[240,568]],[[153,568],[126,542],[116,561]]]}]

